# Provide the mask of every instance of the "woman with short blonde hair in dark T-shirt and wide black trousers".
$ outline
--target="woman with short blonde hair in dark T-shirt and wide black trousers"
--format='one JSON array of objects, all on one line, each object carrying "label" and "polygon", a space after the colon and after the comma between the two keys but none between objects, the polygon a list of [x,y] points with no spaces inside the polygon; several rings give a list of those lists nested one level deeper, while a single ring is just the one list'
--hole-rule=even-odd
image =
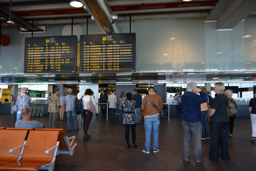
[{"label": "woman with short blonde hair in dark T-shirt and wide black trousers", "polygon": [[217,94],[211,104],[211,110],[208,115],[210,117],[210,132],[211,132],[211,145],[210,145],[210,160],[219,161],[220,157],[228,161],[230,156],[228,154],[228,97],[223,93],[225,86],[222,82],[214,84],[214,92]]}]

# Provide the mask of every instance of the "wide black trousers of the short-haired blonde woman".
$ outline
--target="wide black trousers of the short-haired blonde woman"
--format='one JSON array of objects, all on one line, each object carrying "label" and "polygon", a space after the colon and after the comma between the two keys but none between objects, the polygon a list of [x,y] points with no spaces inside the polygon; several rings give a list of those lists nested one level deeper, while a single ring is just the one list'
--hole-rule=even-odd
[{"label": "wide black trousers of the short-haired blonde woman", "polygon": [[229,122],[211,122],[211,145],[210,145],[210,160],[219,161],[220,157],[228,161],[228,126]]}]

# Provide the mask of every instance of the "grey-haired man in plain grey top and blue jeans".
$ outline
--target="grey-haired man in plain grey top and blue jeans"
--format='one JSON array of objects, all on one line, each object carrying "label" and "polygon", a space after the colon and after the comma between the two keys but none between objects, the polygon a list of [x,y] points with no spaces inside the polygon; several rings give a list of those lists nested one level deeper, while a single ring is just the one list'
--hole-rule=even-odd
[{"label": "grey-haired man in plain grey top and blue jeans", "polygon": [[76,118],[75,100],[76,97],[73,95],[73,90],[68,89],[68,95],[65,97],[68,131],[71,131],[70,115],[73,117],[76,131],[79,131]]}]

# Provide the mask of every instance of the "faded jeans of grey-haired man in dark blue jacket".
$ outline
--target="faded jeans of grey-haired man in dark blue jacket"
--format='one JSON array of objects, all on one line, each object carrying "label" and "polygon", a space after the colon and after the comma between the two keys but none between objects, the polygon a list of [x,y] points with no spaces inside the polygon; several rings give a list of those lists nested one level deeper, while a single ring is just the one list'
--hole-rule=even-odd
[{"label": "faded jeans of grey-haired man in dark blue jacket", "polygon": [[196,160],[201,160],[203,157],[202,143],[201,143],[201,136],[202,136],[201,122],[189,123],[186,121],[182,121],[182,125],[184,129],[184,145],[183,145],[184,159],[189,159],[190,142],[191,142],[191,137],[193,135],[195,157],[196,157]]}]

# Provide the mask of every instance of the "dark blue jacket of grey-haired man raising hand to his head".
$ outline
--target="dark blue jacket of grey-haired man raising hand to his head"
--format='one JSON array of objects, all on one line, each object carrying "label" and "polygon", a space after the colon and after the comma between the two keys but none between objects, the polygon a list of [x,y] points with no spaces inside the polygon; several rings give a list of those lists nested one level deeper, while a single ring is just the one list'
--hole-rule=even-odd
[{"label": "dark blue jacket of grey-haired man raising hand to his head", "polygon": [[208,101],[207,95],[200,91],[200,95],[187,91],[181,97],[182,121],[196,123],[201,121],[201,103]]}]

